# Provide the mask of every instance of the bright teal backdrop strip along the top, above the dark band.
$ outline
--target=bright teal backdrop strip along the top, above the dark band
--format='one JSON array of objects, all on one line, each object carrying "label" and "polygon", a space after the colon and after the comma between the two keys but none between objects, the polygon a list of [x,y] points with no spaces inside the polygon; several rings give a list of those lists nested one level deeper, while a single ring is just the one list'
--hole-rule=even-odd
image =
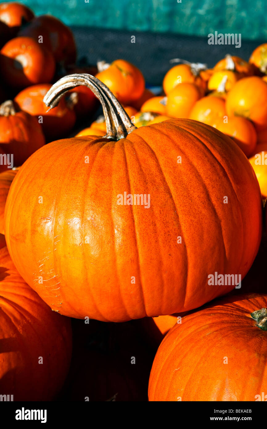
[{"label": "bright teal backdrop strip along the top, above the dark band", "polygon": [[37,14],[68,25],[207,36],[241,33],[267,39],[267,0],[24,0]]}]

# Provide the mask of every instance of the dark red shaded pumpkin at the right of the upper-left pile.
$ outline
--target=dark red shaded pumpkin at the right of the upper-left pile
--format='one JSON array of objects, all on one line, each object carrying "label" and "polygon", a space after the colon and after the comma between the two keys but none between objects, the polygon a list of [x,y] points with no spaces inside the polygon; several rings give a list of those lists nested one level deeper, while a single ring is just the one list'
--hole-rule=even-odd
[{"label": "dark red shaded pumpkin at the right of the upper-left pile", "polygon": [[54,16],[36,16],[18,35],[31,37],[36,42],[39,42],[42,35],[42,44],[51,52],[57,63],[63,66],[75,63],[76,45],[72,31]]}]

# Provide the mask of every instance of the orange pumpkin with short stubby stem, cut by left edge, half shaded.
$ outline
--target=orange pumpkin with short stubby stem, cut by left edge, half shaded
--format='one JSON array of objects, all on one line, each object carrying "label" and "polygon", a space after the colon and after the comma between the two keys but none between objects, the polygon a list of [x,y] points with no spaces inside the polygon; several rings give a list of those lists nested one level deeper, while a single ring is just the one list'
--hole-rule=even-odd
[{"label": "orange pumpkin with short stubby stem, cut by left edge, half shaded", "polygon": [[19,166],[45,144],[42,127],[27,112],[16,112],[11,100],[0,106],[0,145],[13,154],[13,163]]}]

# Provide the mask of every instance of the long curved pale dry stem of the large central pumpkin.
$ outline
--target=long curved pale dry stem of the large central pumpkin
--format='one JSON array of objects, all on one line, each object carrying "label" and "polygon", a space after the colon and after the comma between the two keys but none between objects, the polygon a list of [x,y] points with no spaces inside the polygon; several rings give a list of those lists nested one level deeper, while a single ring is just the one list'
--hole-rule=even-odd
[{"label": "long curved pale dry stem of the large central pumpkin", "polygon": [[107,127],[105,138],[123,139],[133,130],[136,130],[129,116],[108,87],[96,77],[85,73],[64,76],[50,88],[43,101],[50,110],[58,105],[63,94],[80,85],[90,88],[102,104]]}]

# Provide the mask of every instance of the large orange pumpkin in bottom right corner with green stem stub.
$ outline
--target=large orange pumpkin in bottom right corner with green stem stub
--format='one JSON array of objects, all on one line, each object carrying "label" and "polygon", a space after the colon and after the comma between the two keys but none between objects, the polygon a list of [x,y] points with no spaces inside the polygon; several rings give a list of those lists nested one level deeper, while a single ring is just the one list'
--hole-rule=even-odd
[{"label": "large orange pumpkin in bottom right corner with green stem stub", "polygon": [[267,295],[248,294],[183,317],[156,353],[149,400],[261,400],[267,391],[266,307]]}]

